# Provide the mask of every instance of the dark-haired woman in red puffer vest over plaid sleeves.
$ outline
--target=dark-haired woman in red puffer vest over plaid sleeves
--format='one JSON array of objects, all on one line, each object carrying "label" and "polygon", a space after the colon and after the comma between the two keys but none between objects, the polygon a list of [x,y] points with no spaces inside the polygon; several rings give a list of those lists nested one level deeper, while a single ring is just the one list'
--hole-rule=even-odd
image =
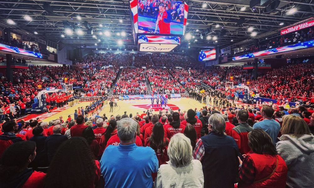
[{"label": "dark-haired woman in red puffer vest over plaid sleeves", "polygon": [[285,188],[288,167],[277,153],[270,136],[260,128],[248,134],[251,154],[240,162],[239,188],[278,187]]}]

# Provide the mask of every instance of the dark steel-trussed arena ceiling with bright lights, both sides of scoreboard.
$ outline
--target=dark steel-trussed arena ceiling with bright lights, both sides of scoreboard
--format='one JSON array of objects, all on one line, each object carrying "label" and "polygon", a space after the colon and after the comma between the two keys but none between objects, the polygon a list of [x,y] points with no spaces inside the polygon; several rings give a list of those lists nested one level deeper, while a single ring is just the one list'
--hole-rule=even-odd
[{"label": "dark steel-trussed arena ceiling with bright lights, both sides of scoreboard", "polygon": [[[98,43],[103,47],[113,47],[118,39],[122,39],[125,46],[134,45],[128,1],[0,0],[0,27],[65,44]],[[279,34],[281,28],[314,15],[314,0],[279,1],[278,8],[267,12],[265,7],[259,5],[250,8],[250,0],[187,0],[190,8],[186,33],[191,33],[194,38],[183,38],[181,48],[245,44],[252,39],[265,39]],[[296,8],[297,12],[289,15],[290,8]],[[32,20],[25,20],[25,15],[29,15]],[[12,19],[15,24],[8,24],[8,19]],[[83,35],[66,35],[65,22],[82,29]],[[84,22],[90,24],[97,39],[87,34]],[[249,31],[250,27],[253,31]],[[111,31],[111,36],[100,35],[100,32],[106,30]],[[257,35],[252,37],[252,32]],[[201,33],[208,34],[201,39]],[[62,34],[65,36],[62,37]],[[207,40],[208,35],[218,36],[217,42],[213,39]]]}]

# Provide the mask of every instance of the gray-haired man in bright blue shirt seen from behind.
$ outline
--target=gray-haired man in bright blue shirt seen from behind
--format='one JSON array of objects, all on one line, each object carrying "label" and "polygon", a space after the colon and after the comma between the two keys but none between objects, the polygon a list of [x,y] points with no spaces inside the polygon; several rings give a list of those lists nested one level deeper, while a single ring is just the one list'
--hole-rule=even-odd
[{"label": "gray-haired man in bright blue shirt seen from behind", "polygon": [[118,122],[120,144],[109,145],[100,160],[105,187],[153,187],[151,174],[158,170],[158,159],[150,147],[136,146],[136,128],[132,118]]}]

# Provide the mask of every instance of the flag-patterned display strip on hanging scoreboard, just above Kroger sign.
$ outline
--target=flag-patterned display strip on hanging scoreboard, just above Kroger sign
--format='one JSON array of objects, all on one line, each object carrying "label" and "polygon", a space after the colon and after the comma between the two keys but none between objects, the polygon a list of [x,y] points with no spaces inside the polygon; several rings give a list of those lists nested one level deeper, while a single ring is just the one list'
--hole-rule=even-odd
[{"label": "flag-patterned display strip on hanging scoreboard, just above Kroger sign", "polygon": [[141,35],[138,36],[138,44],[141,43],[180,44],[180,37]]}]

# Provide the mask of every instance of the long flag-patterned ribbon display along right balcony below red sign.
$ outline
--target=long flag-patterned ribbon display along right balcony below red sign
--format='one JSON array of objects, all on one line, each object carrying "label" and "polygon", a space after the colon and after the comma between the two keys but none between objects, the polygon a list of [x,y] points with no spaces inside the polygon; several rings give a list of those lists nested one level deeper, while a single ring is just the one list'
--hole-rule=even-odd
[{"label": "long flag-patterned ribbon display along right balcony below red sign", "polygon": [[240,55],[240,56],[233,57],[232,60],[233,61],[243,60],[243,59],[248,59],[248,58],[261,57],[265,55],[273,55],[277,53],[288,52],[292,50],[306,49],[306,48],[311,48],[311,47],[314,47],[314,40],[309,40],[306,42],[300,42],[297,44],[291,44],[288,46],[273,48],[270,50],[263,50],[263,51],[254,52],[250,54]]}]

